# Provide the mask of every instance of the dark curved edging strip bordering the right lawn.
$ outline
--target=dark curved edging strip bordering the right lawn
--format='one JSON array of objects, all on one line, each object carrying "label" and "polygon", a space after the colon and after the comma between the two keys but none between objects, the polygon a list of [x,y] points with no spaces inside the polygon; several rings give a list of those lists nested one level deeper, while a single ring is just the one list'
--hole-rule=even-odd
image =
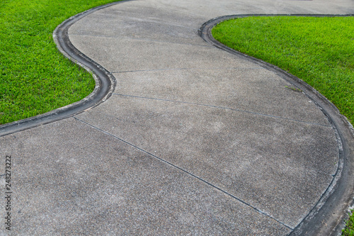
[{"label": "dark curved edging strip bordering the right lawn", "polygon": [[205,22],[198,29],[198,34],[207,43],[219,47],[237,57],[249,60],[261,65],[278,76],[290,82],[293,86],[301,89],[303,93],[309,97],[314,103],[319,106],[324,115],[329,119],[333,130],[336,133],[338,142],[338,156],[339,163],[336,174],[326,191],[324,191],[316,206],[309,212],[306,218],[302,220],[297,227],[290,233],[290,235],[341,235],[343,228],[348,219],[348,208],[353,204],[354,193],[354,130],[345,116],[339,113],[336,106],[328,99],[319,94],[309,84],[303,82],[301,79],[292,74],[285,72],[273,64],[263,62],[244,53],[237,52],[222,43],[219,43],[212,37],[211,30],[214,26],[222,21],[227,21],[232,18],[244,18],[249,16],[314,16],[314,17],[335,17],[335,16],[353,16],[353,15],[304,15],[304,14],[243,14],[232,16],[221,16],[213,18]]}]

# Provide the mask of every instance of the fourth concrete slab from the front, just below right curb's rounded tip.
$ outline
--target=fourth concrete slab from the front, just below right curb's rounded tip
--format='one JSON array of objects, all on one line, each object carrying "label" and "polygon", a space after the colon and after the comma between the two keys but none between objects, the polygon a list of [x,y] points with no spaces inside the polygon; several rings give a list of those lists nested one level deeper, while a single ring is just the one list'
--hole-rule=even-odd
[{"label": "fourth concrete slab from the front, just below right curb's rounded tip", "polygon": [[70,40],[81,52],[112,73],[152,69],[259,67],[211,46],[86,35],[71,35]]}]

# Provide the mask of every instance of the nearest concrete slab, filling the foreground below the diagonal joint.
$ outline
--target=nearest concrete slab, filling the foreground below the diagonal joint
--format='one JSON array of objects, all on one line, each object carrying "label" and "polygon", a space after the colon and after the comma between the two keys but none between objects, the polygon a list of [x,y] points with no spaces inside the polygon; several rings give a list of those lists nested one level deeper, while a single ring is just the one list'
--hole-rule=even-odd
[{"label": "nearest concrete slab, filling the foreground below the diagonal joint", "polygon": [[195,177],[74,118],[0,137],[0,142],[13,166],[13,235],[290,232]]}]

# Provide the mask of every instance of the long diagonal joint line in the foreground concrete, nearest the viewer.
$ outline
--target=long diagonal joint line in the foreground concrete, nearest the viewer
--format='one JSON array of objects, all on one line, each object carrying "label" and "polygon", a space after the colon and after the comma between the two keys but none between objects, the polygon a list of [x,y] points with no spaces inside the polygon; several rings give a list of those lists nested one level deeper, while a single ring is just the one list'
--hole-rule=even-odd
[{"label": "long diagonal joint line in the foreground concrete, nearest the viewer", "polygon": [[94,126],[94,125],[91,125],[91,124],[89,124],[89,123],[86,123],[84,120],[80,120],[79,118],[76,118],[76,117],[74,117],[74,119],[75,119],[75,120],[78,120],[78,121],[81,122],[81,123],[84,123],[85,125],[88,125],[89,127],[93,128],[93,129],[95,129],[95,130],[98,130],[98,131],[104,133],[105,135],[109,135],[109,136],[111,136],[111,137],[113,137],[113,138],[115,138],[115,139],[117,139],[117,140],[120,140],[121,142],[124,142],[125,144],[130,145],[131,147],[134,147],[135,149],[137,149],[137,150],[139,150],[139,151],[141,151],[141,152],[144,152],[144,153],[148,154],[149,156],[154,157],[155,159],[158,159],[159,161],[164,162],[165,164],[168,164],[169,166],[174,167],[174,168],[180,170],[181,172],[184,172],[185,174],[188,174],[188,175],[194,177],[195,179],[198,179],[198,180],[202,181],[203,183],[205,183],[205,184],[211,186],[212,188],[217,189],[217,190],[221,191],[222,193],[225,193],[225,194],[227,194],[228,196],[230,196],[230,197],[236,199],[236,201],[239,201],[239,202],[243,203],[244,205],[249,206],[249,207],[252,208],[253,210],[256,210],[256,211],[257,211],[258,213],[260,213],[261,215],[265,215],[266,217],[268,217],[268,218],[270,218],[270,219],[272,219],[272,220],[275,220],[276,222],[280,223],[281,225],[284,225],[284,226],[287,227],[288,229],[294,230],[294,228],[292,228],[292,227],[290,227],[289,225],[286,225],[285,223],[282,223],[281,221],[279,221],[279,220],[273,218],[273,217],[272,217],[271,215],[269,215],[268,213],[265,213],[265,212],[263,212],[262,210],[259,210],[258,208],[254,207],[254,206],[251,206],[249,203],[246,203],[245,201],[241,200],[240,198],[237,198],[236,196],[232,195],[232,193],[228,193],[227,191],[224,191],[224,190],[220,189],[219,187],[215,186],[214,184],[211,184],[210,182],[208,182],[208,181],[202,179],[201,177],[196,176],[195,174],[190,173],[190,172],[188,172],[187,170],[182,169],[181,167],[176,166],[176,164],[172,164],[171,162],[168,162],[168,161],[166,161],[165,159],[162,159],[161,157],[157,157],[156,155],[154,155],[154,154],[152,154],[152,153],[150,153],[150,152],[147,152],[146,150],[143,150],[142,148],[137,147],[136,145],[133,145],[133,144],[130,143],[130,142],[127,142],[127,141],[125,141],[125,140],[122,140],[120,137],[117,137],[117,136],[115,136],[115,135],[113,135],[113,134],[111,134],[111,133],[108,133],[108,132],[106,132],[105,130],[102,130],[101,128],[98,128],[98,127],[96,127],[96,126]]}]

